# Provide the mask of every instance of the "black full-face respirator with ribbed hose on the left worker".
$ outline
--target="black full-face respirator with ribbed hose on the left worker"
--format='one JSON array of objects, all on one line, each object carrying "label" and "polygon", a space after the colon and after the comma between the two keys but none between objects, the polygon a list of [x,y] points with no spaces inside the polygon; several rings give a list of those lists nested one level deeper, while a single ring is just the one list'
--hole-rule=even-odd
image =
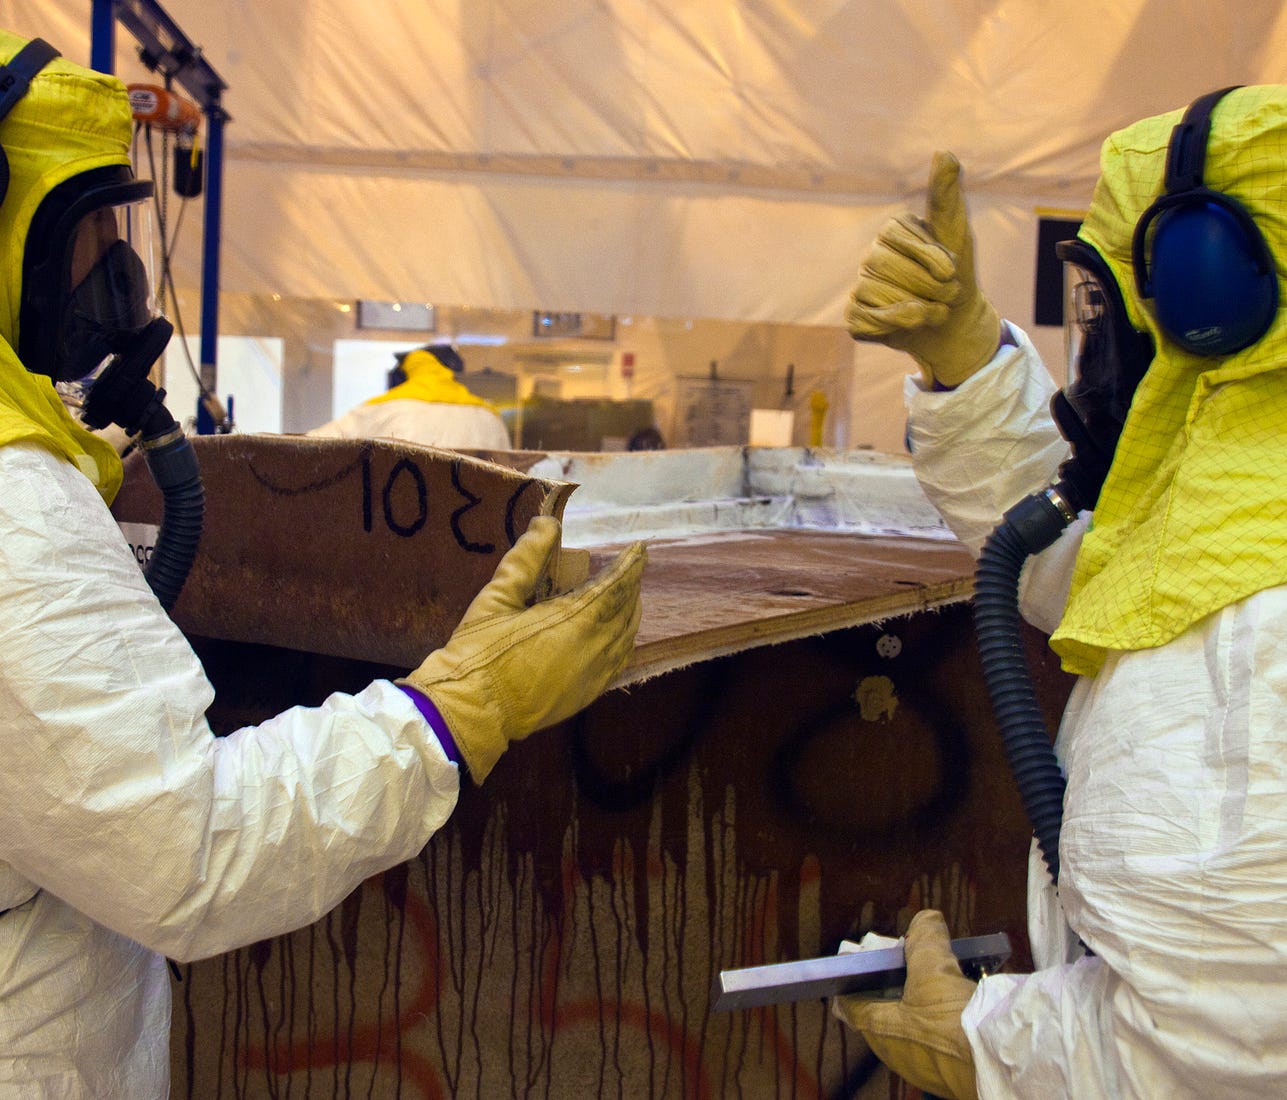
[{"label": "black full-face respirator with ribbed hose on the left worker", "polygon": [[[0,203],[10,189],[4,122],[57,57],[35,39],[0,66]],[[169,610],[196,557],[205,494],[192,444],[148,378],[174,333],[152,295],[152,197],[151,180],[117,163],[40,199],[23,247],[15,350],[89,428],[115,423],[138,441],[163,497],[145,576]]]}]

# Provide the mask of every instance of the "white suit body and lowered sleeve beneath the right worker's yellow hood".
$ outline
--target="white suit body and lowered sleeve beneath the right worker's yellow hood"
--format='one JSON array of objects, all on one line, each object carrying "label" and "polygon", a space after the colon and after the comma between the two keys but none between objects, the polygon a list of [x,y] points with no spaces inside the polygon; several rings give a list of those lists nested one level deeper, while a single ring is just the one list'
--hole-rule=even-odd
[{"label": "white suit body and lowered sleeve beneath the right worker's yellow hood", "polygon": [[1095,957],[981,983],[981,1096],[1287,1095],[1284,652],[1281,587],[1079,682],[1060,894]]}]

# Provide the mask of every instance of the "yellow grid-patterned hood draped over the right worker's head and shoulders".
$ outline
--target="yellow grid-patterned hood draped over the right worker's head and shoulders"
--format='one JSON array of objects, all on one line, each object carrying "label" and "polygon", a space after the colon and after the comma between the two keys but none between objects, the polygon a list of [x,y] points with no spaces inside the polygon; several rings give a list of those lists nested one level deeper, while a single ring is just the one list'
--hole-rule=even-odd
[{"label": "yellow grid-patterned hood draped over the right worker's head and shoulders", "polygon": [[[1183,111],[1103,145],[1080,235],[1112,269],[1157,358],[1140,382],[1073,573],[1051,646],[1094,674],[1109,650],[1165,645],[1199,619],[1287,583],[1287,319],[1251,347],[1190,355],[1158,331],[1135,289],[1131,235],[1162,192]],[[1247,87],[1216,107],[1206,183],[1248,208],[1287,262],[1287,86]]]}]

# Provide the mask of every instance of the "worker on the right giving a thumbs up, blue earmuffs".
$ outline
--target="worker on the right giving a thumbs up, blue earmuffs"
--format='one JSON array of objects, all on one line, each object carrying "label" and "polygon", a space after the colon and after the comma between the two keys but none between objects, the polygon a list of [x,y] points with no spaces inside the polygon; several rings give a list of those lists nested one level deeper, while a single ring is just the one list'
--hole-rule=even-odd
[{"label": "worker on the right giving a thumbs up, blue earmuffs", "polygon": [[[1019,585],[1081,677],[1055,744],[1058,893],[1030,868],[1036,971],[976,985],[927,910],[902,1000],[834,1002],[938,1096],[1287,1095],[1287,86],[1203,100],[1106,142],[1060,246],[1073,367],[1116,349],[1138,389],[1093,517]],[[950,156],[927,216],[879,234],[847,320],[916,359],[912,462],[978,552],[1068,444],[1036,351],[978,289]]]}]

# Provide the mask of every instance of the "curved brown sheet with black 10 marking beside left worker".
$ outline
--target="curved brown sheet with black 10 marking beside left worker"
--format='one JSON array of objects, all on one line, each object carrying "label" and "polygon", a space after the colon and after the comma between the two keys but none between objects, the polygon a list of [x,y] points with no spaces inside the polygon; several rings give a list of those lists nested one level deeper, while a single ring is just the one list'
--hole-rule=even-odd
[{"label": "curved brown sheet with black 10 marking beside left worker", "polygon": [[[574,488],[390,440],[192,444],[206,520],[172,612],[180,629],[399,668],[447,641],[532,517],[561,516]],[[160,524],[138,453],[112,513]]]}]

